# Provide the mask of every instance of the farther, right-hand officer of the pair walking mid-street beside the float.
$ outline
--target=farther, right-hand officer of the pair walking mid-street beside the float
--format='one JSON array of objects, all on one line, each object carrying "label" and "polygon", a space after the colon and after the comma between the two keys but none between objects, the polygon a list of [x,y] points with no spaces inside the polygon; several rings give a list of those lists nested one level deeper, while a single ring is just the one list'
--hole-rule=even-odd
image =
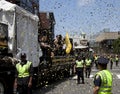
[{"label": "farther, right-hand officer of the pair walking mid-street beside the float", "polygon": [[89,78],[89,77],[90,77],[91,64],[92,64],[92,60],[87,56],[87,58],[86,58],[86,60],[85,60],[85,73],[86,73],[86,78]]}]

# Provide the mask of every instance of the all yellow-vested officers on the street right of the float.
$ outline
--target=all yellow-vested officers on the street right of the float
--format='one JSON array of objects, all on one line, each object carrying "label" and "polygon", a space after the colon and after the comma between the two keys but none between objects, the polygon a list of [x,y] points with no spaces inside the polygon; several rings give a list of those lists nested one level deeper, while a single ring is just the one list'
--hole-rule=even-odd
[{"label": "all yellow-vested officers on the street right of the float", "polygon": [[74,72],[77,74],[77,84],[85,84],[84,77],[89,78],[91,69],[95,67],[99,71],[94,75],[93,94],[112,94],[113,76],[110,70],[113,65],[119,67],[119,61],[119,56],[114,54],[93,55],[93,58],[89,55],[78,56],[74,67]]}]

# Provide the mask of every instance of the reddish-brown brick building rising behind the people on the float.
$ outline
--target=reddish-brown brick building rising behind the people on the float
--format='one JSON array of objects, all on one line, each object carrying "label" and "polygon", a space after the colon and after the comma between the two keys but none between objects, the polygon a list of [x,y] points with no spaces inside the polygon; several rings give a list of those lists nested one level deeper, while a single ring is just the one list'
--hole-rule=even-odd
[{"label": "reddish-brown brick building rising behind the people on the float", "polygon": [[47,34],[50,41],[54,39],[54,25],[55,18],[53,12],[40,12],[39,13],[39,34]]}]

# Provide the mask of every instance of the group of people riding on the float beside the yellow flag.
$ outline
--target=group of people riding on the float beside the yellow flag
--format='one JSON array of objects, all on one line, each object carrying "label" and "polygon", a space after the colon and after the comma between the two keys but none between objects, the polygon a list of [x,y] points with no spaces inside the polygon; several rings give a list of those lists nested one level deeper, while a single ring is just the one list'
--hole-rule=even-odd
[{"label": "group of people riding on the float beside the yellow flag", "polygon": [[65,39],[62,35],[57,35],[52,43],[49,41],[47,35],[43,35],[39,38],[40,47],[42,50],[42,56],[40,57],[40,63],[44,60],[49,61],[52,63],[51,58],[54,56],[65,56]]}]

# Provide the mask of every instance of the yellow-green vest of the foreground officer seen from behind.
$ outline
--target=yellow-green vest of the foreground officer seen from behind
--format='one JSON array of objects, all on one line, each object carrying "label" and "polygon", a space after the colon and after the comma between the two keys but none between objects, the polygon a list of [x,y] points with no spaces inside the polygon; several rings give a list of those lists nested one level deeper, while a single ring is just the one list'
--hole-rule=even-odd
[{"label": "yellow-green vest of the foreground officer seen from behind", "polygon": [[102,70],[96,75],[101,77],[101,86],[98,94],[112,94],[112,74],[108,70]]}]

